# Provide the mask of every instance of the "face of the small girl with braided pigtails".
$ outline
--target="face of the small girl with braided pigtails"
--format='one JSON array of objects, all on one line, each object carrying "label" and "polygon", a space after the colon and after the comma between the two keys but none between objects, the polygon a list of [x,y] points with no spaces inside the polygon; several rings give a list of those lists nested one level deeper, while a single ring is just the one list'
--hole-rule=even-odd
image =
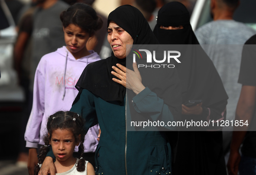
[{"label": "face of the small girl with braided pigtails", "polygon": [[52,132],[50,144],[52,145],[52,152],[56,157],[56,161],[61,162],[74,159],[73,152],[75,146],[79,145],[79,142],[75,142],[74,134],[70,130],[57,129]]}]

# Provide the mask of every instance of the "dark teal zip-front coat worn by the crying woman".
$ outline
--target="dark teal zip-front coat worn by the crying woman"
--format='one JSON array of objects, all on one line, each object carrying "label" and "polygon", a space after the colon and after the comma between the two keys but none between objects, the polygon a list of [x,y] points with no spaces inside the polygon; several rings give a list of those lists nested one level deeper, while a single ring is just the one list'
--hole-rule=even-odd
[{"label": "dark teal zip-front coat worn by the crying woman", "polygon": [[[168,106],[149,88],[133,97],[136,111],[143,112],[147,103],[151,103],[151,111],[152,106],[157,106],[152,112],[153,120],[163,116],[169,121],[174,120]],[[171,147],[165,131],[128,131],[125,100],[122,104],[106,102],[83,89],[70,111],[83,116],[86,131],[97,123],[100,125],[100,141],[95,154],[96,175],[172,174]]]}]

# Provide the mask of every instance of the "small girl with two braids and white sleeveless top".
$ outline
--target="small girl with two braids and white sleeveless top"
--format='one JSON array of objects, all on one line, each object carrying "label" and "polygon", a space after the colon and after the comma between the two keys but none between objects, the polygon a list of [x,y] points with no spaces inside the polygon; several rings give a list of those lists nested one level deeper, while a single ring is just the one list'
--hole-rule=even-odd
[{"label": "small girl with two braids and white sleeveless top", "polygon": [[[51,115],[47,122],[48,134],[45,135],[43,146],[39,153],[39,163],[35,167],[35,175],[38,175],[41,164],[52,146],[52,152],[56,157],[56,175],[95,175],[94,168],[84,160],[84,119],[71,111],[58,111]],[[73,152],[78,146],[81,158],[75,158]]]}]

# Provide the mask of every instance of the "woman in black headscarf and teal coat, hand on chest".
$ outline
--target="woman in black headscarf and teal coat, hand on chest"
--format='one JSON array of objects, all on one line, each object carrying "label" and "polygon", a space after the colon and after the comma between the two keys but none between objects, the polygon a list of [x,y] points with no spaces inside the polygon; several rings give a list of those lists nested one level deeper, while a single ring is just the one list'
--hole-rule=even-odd
[{"label": "woman in black headscarf and teal coat, hand on chest", "polygon": [[[126,45],[158,44],[146,19],[135,7],[120,6],[111,12],[107,31],[113,50],[111,56],[84,69],[76,84],[79,93],[71,108],[85,118],[86,131],[97,123],[100,125],[95,172],[99,175],[171,174],[166,132],[129,131],[127,115],[130,108],[139,118],[169,121],[179,118],[181,91],[177,70],[165,69],[161,73],[166,75],[154,80],[150,79],[154,70],[141,71],[136,64],[127,65],[130,69],[133,66],[134,71],[126,69]],[[166,80],[168,86],[159,87]],[[145,109],[147,112],[143,115]],[[45,170],[44,173],[48,172],[48,168]]]}]

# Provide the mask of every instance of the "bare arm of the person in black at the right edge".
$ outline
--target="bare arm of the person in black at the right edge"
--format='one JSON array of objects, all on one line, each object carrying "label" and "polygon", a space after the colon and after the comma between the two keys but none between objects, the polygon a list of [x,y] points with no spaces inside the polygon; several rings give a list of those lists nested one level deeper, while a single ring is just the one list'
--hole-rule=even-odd
[{"label": "bare arm of the person in black at the right edge", "polygon": [[[242,86],[240,98],[237,103],[235,120],[248,120],[248,124],[250,124],[255,109],[255,101],[256,86]],[[235,130],[239,131],[233,131],[232,141],[230,145],[230,156],[227,163],[229,175],[237,175],[238,165],[241,159],[239,148],[246,135],[247,127],[237,127]]]}]

